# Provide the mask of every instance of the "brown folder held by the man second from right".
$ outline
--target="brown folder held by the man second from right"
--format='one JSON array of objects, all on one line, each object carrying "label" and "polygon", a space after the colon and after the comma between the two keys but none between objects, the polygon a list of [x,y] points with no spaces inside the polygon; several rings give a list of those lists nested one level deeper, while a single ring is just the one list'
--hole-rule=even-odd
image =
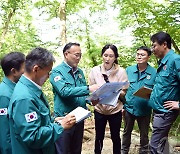
[{"label": "brown folder held by the man second from right", "polygon": [[151,92],[152,92],[151,88],[143,86],[140,89],[138,89],[133,95],[144,98],[144,99],[149,99]]}]

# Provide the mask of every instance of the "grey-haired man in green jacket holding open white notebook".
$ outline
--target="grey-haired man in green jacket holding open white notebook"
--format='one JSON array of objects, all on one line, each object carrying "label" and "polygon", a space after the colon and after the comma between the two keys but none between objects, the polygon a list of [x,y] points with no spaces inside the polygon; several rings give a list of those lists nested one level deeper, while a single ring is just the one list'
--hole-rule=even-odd
[{"label": "grey-haired man in green jacket holding open white notebook", "polygon": [[41,86],[49,77],[53,62],[53,55],[40,47],[26,56],[25,73],[16,84],[9,105],[13,154],[55,154],[55,141],[75,123],[75,116],[71,115],[61,125],[51,119]]}]

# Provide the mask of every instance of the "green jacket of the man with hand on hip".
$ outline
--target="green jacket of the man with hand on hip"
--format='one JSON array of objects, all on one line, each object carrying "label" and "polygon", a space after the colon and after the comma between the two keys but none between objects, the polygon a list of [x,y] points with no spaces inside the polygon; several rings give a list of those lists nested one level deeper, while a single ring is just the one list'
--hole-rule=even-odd
[{"label": "green jacket of the man with hand on hip", "polygon": [[180,101],[180,55],[173,50],[159,61],[150,105],[155,111],[166,113],[165,101]]}]

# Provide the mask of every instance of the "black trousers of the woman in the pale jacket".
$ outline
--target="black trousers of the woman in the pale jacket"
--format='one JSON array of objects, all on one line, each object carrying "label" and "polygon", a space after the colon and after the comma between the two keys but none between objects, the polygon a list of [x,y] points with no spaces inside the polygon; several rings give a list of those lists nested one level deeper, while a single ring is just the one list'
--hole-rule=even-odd
[{"label": "black trousers of the woman in the pale jacket", "polygon": [[97,111],[94,111],[95,116],[95,154],[101,154],[103,148],[103,140],[105,134],[105,128],[107,121],[109,122],[111,139],[113,142],[113,154],[121,153],[121,139],[120,139],[120,128],[122,121],[121,111],[112,115],[100,114]]}]

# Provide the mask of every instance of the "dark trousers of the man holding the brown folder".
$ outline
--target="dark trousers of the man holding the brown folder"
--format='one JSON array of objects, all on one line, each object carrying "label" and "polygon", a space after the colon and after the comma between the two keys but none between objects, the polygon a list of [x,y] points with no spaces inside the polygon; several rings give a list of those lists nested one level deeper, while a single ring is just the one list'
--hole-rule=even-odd
[{"label": "dark trousers of the man holding the brown folder", "polygon": [[122,140],[122,153],[128,154],[129,147],[131,145],[131,133],[134,127],[134,122],[137,120],[139,132],[140,132],[140,154],[147,154],[149,151],[149,124],[151,116],[134,116],[131,113],[125,111],[124,115],[124,132]]}]

